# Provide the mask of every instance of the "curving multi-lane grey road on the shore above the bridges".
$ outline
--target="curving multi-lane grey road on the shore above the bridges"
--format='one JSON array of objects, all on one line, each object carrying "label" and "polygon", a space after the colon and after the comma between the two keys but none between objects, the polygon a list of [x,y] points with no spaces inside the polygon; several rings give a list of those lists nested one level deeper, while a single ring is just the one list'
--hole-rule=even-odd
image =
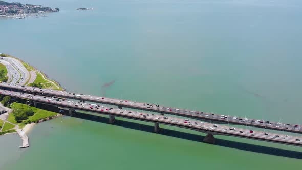
[{"label": "curving multi-lane grey road on the shore above the bridges", "polygon": [[13,72],[12,75],[14,76],[14,79],[11,81],[11,83],[24,85],[30,79],[29,71],[19,60],[11,57],[3,57],[2,60],[10,64],[10,66],[7,67],[7,70],[8,72]]}]

